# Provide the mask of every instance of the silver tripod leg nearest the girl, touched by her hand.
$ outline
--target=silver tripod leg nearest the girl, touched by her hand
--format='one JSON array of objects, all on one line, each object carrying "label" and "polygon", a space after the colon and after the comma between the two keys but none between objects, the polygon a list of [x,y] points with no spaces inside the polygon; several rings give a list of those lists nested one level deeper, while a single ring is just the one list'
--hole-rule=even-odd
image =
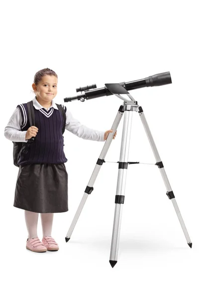
[{"label": "silver tripod leg nearest the girl, touched by her hand", "polygon": [[112,125],[112,127],[111,127],[111,130],[113,130],[113,132],[112,132],[112,133],[109,133],[109,135],[108,135],[108,137],[107,137],[107,139],[106,139],[106,141],[105,141],[105,144],[104,144],[104,146],[103,146],[103,149],[102,149],[102,151],[101,151],[101,153],[100,153],[100,157],[99,157],[99,159],[98,159],[98,161],[97,161],[97,164],[96,164],[96,166],[95,166],[95,168],[94,168],[94,171],[93,171],[92,176],[91,176],[91,178],[90,178],[90,180],[89,180],[89,183],[88,183],[88,185],[87,185],[87,187],[86,187],[86,189],[85,189],[85,193],[84,193],[84,195],[83,195],[83,198],[82,198],[82,200],[81,200],[81,202],[80,202],[80,205],[79,205],[79,207],[78,207],[78,209],[77,209],[77,212],[76,212],[76,214],[75,214],[75,216],[74,216],[74,219],[73,219],[73,221],[72,221],[72,223],[71,223],[71,226],[70,226],[70,228],[69,228],[69,231],[68,231],[68,233],[67,233],[67,235],[66,235],[66,238],[65,238],[66,242],[69,241],[69,239],[70,239],[70,237],[71,237],[71,235],[72,235],[72,232],[73,232],[73,230],[74,230],[74,228],[75,228],[75,225],[76,225],[76,223],[77,223],[77,221],[78,221],[78,218],[79,218],[79,216],[80,216],[80,214],[81,214],[81,212],[82,212],[82,209],[83,209],[83,207],[84,207],[84,204],[85,204],[85,202],[86,202],[86,200],[87,200],[88,195],[91,194],[91,192],[92,192],[93,189],[94,189],[94,188],[93,188],[93,185],[94,185],[94,183],[95,183],[95,181],[96,181],[96,178],[97,178],[98,173],[99,173],[99,171],[100,171],[101,165],[102,165],[103,162],[104,162],[105,155],[106,155],[106,153],[107,153],[107,151],[108,151],[108,149],[109,149],[109,147],[110,147],[110,144],[111,144],[111,142],[112,142],[112,136],[115,134],[115,132],[116,132],[116,130],[117,130],[117,127],[118,127],[118,125],[119,125],[119,122],[120,122],[120,120],[121,120],[121,118],[122,118],[122,115],[123,115],[123,111],[122,111],[122,109],[123,109],[123,106],[121,105],[121,106],[119,107],[119,110],[118,110],[118,112],[117,112],[117,115],[116,115],[116,117],[115,117],[115,120],[114,120],[114,122],[113,122],[113,125]]}]

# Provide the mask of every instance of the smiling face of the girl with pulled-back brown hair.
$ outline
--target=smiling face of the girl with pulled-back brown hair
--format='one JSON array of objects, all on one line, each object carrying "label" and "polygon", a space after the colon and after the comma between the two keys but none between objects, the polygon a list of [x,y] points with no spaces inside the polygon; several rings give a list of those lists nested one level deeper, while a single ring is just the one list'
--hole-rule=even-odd
[{"label": "smiling face of the girl with pulled-back brown hair", "polygon": [[49,102],[57,95],[57,77],[45,75],[38,85],[32,84],[37,98]]}]

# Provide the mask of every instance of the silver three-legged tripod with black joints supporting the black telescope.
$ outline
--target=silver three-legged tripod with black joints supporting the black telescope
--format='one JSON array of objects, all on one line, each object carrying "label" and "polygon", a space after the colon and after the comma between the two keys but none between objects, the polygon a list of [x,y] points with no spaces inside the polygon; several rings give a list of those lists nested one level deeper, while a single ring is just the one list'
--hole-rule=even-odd
[{"label": "silver three-legged tripod with black joints supporting the black telescope", "polygon": [[[131,122],[132,122],[132,112],[138,112],[139,116],[141,118],[142,124],[144,126],[144,129],[146,131],[148,140],[150,142],[151,148],[153,150],[155,159],[156,159],[156,165],[159,167],[162,178],[164,180],[166,189],[167,189],[167,196],[169,199],[171,199],[174,208],[176,210],[178,219],[180,221],[180,224],[182,226],[183,232],[185,234],[185,237],[187,239],[188,245],[192,248],[192,242],[190,240],[188,231],[186,229],[185,223],[183,221],[183,218],[181,216],[179,207],[177,205],[174,192],[172,191],[172,188],[170,186],[169,180],[167,178],[163,162],[161,161],[161,158],[159,156],[158,150],[155,146],[153,137],[151,135],[150,129],[148,127],[148,124],[146,122],[142,107],[137,104],[137,102],[133,99],[133,97],[129,94],[129,92],[120,84],[105,84],[106,88],[115,96],[120,98],[121,100],[124,100],[123,105],[119,107],[119,110],[117,112],[117,115],[115,117],[115,120],[113,122],[113,125],[111,127],[111,130],[113,130],[112,133],[109,133],[107,140],[103,146],[103,149],[100,153],[100,157],[96,163],[95,169],[92,173],[92,176],[90,178],[90,181],[85,189],[85,193],[83,195],[83,198],[80,202],[80,205],[78,207],[78,210],[75,214],[75,217],[72,221],[72,224],[69,228],[69,231],[66,236],[66,242],[69,241],[71,234],[74,230],[74,227],[77,223],[77,220],[80,216],[80,213],[84,207],[84,204],[87,200],[87,197],[91,192],[93,191],[93,185],[96,181],[96,178],[98,176],[98,173],[100,171],[100,167],[103,164],[105,155],[110,147],[110,144],[112,142],[112,136],[115,134],[116,129],[119,125],[119,122],[124,114],[124,122],[123,122],[123,131],[122,131],[122,140],[121,140],[121,149],[120,149],[120,157],[119,157],[119,167],[118,167],[118,177],[117,177],[117,188],[116,188],[116,195],[115,195],[115,212],[114,212],[114,222],[113,222],[113,230],[112,230],[112,240],[111,240],[111,249],[110,249],[110,259],[109,263],[111,267],[113,268],[115,264],[117,263],[117,254],[118,254],[118,248],[119,248],[119,235],[120,235],[120,226],[121,226],[121,215],[122,215],[122,204],[124,203],[124,193],[125,193],[125,183],[126,183],[126,173],[127,173],[127,167],[128,164],[133,162],[128,162],[128,152],[129,152],[129,143],[130,143],[130,131],[131,131]],[[125,99],[124,97],[120,96],[120,94],[126,94],[130,100]]]}]

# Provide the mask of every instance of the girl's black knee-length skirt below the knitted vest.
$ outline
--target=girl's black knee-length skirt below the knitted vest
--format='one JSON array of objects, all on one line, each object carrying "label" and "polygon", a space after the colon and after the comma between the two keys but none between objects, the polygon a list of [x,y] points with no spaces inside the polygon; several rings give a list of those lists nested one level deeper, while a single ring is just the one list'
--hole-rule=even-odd
[{"label": "girl's black knee-length skirt below the knitted vest", "polygon": [[64,163],[19,165],[14,207],[36,213],[68,211],[68,173]]}]

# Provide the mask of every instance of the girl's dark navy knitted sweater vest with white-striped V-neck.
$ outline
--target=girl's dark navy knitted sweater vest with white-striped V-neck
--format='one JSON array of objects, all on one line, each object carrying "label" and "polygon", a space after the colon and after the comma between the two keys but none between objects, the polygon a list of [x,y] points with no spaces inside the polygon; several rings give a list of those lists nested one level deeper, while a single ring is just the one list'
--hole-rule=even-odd
[{"label": "girl's dark navy knitted sweater vest with white-striped V-neck", "polygon": [[[21,131],[27,131],[30,128],[27,103],[17,107],[19,107],[22,115]],[[66,107],[63,107],[66,112]],[[29,144],[27,153],[23,153],[23,150],[19,152],[18,165],[67,162],[63,149],[62,127],[64,119],[62,113],[52,107],[48,111],[45,108],[40,110],[34,108],[34,114],[35,127],[38,128],[38,133],[34,142]]]}]

